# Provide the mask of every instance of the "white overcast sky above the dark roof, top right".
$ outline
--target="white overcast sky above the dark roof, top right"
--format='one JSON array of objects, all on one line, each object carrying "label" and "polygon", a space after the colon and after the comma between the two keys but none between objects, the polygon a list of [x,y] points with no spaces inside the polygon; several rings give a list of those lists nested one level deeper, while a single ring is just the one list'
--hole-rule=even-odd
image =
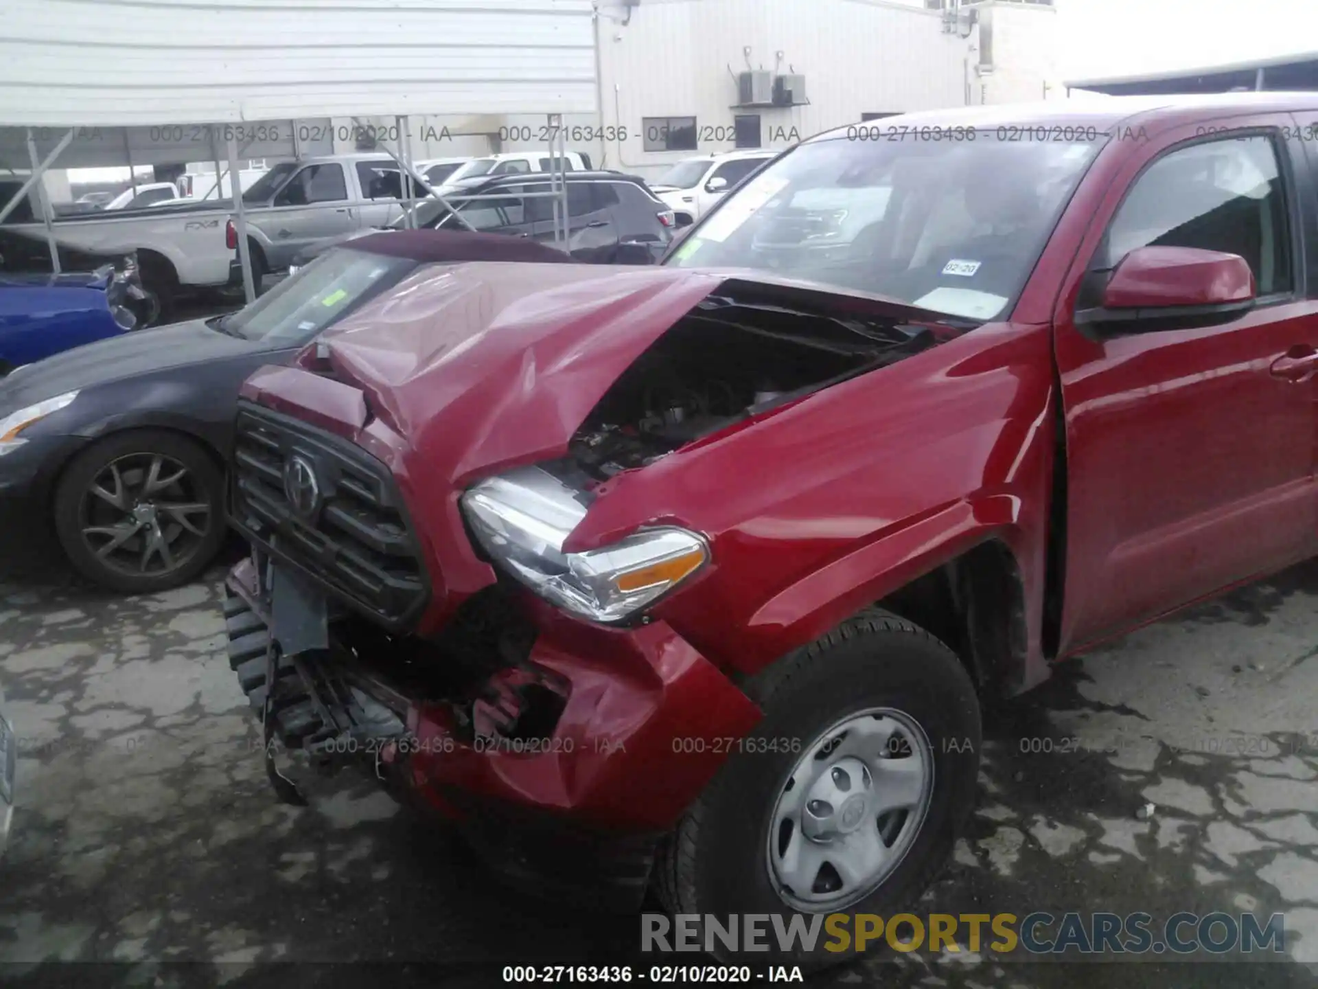
[{"label": "white overcast sky above the dark roof, top right", "polygon": [[1314,0],[1057,0],[1064,79],[1318,51]]}]

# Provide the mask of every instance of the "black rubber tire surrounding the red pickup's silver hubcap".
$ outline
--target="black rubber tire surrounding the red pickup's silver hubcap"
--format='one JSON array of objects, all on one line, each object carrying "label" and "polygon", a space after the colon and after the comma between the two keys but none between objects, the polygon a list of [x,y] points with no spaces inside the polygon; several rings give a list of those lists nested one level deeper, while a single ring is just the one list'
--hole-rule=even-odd
[{"label": "black rubber tire surrounding the red pickup's silver hubcap", "polygon": [[[800,914],[811,923],[812,915],[817,914],[866,913],[887,919],[907,911],[942,868],[974,803],[981,745],[979,704],[974,684],[956,654],[928,632],[874,609],[847,620],[828,636],[751,678],[745,690],[760,704],[764,717],[750,736],[750,744],[724,765],[660,849],[655,868],[660,901],[673,914],[713,914],[721,923],[728,923],[733,914],[779,914],[787,923],[791,923],[792,915]],[[895,713],[882,717],[869,713],[875,708]],[[780,878],[771,872],[775,868],[775,845],[770,843],[771,831],[782,843],[784,829],[788,833],[793,829],[780,822],[771,824],[775,810],[780,807],[779,799],[788,800],[787,794],[795,789],[795,781],[791,786],[788,781],[793,773],[795,778],[809,781],[808,774],[821,771],[812,769],[816,764],[825,767],[816,782],[805,783],[803,803],[805,795],[818,791],[816,787],[828,786],[825,777],[837,779],[833,775],[837,767],[844,769],[845,779],[854,782],[858,775],[854,761],[834,762],[826,752],[821,753],[821,761],[811,758],[811,753],[830,734],[844,738],[833,746],[833,752],[847,750],[845,736],[836,736],[840,723],[854,727],[847,732],[854,731],[857,744],[865,741],[869,745],[873,738],[865,725],[899,725],[898,715],[908,719],[904,731],[909,734],[916,736],[909,731],[912,725],[923,733],[928,742],[924,758],[932,760],[928,764],[932,765],[932,779],[920,790],[923,812],[919,823],[913,831],[907,831],[907,825],[916,820],[909,816],[916,810],[890,811],[890,816],[875,816],[870,822],[871,804],[862,802],[853,816],[853,822],[862,820],[858,825],[853,824],[854,833],[830,837],[825,847],[832,849],[834,841],[841,841],[844,844],[838,847],[845,849],[845,843],[853,837],[866,839],[866,822],[873,823],[880,835],[886,825],[903,843],[900,847],[896,840],[892,844],[890,872],[878,880],[878,886],[857,885],[851,902],[789,902],[791,897],[780,895]],[[796,752],[788,750],[795,744],[792,740],[800,740]],[[784,750],[764,750],[775,741]],[[915,742],[919,742],[917,737]],[[884,749],[892,758],[911,758],[903,754],[902,745],[904,742],[899,742],[896,749]],[[912,746],[907,749],[913,753]],[[805,769],[801,769],[803,762]],[[907,766],[905,762],[902,766],[895,762],[880,765],[878,760],[870,765],[883,773]],[[807,775],[803,777],[803,773]],[[865,774],[871,789],[866,793],[884,793],[878,789],[878,781],[890,777],[869,777],[867,773],[869,767]],[[809,802],[812,806],[816,803]],[[830,820],[841,827],[842,818],[850,816],[842,811],[854,811],[853,803],[846,798]],[[799,819],[804,822],[804,816]],[[902,822],[899,829],[894,828],[898,822]],[[787,840],[788,844],[791,840]],[[880,837],[880,841],[884,840]],[[903,847],[904,852],[900,851]],[[776,848],[780,851],[783,844]],[[820,844],[815,843],[813,848],[817,851]],[[840,887],[845,887],[841,873],[834,870],[832,876],[838,878]],[[815,882],[818,884],[821,877],[824,891],[812,889],[803,895],[833,895],[828,893],[830,874],[826,869],[817,873]],[[869,891],[863,891],[866,889]],[[854,935],[854,930],[851,932]],[[903,928],[902,936],[908,939],[909,928]],[[722,961],[774,960],[812,969],[857,956],[854,939],[845,951],[825,951],[824,945],[832,940],[821,926],[812,952],[801,951],[799,944],[793,945],[793,951],[779,952],[772,934],[767,938],[771,945],[768,956],[759,951],[738,959],[717,939],[713,947]],[[869,947],[873,951],[875,943]]]}]

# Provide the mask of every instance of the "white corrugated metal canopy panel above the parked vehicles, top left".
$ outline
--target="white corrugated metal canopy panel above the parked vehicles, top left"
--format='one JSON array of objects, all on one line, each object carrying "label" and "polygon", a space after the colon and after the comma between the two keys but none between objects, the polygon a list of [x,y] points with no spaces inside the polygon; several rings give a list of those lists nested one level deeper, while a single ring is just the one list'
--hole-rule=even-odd
[{"label": "white corrugated metal canopy panel above the parked vehicles, top left", "polygon": [[4,0],[0,125],[596,109],[590,0]]}]

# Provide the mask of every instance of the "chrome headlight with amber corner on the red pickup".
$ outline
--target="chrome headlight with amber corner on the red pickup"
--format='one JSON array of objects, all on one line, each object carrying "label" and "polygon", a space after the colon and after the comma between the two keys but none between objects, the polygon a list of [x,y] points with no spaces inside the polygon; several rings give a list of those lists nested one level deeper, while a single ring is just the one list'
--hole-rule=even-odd
[{"label": "chrome headlight with amber corner on the red pickup", "polygon": [[542,597],[593,621],[635,614],[709,559],[700,535],[672,526],[564,553],[585,509],[580,492],[539,467],[490,477],[463,494],[467,520],[492,560]]}]

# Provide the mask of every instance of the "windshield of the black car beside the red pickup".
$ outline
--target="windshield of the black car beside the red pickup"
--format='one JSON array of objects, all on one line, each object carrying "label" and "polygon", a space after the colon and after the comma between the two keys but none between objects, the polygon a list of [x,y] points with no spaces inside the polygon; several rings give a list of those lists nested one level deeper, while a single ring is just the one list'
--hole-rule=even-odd
[{"label": "windshield of the black car beside the red pickup", "polygon": [[410,257],[335,248],[227,316],[221,328],[272,347],[299,347],[419,266]]}]

